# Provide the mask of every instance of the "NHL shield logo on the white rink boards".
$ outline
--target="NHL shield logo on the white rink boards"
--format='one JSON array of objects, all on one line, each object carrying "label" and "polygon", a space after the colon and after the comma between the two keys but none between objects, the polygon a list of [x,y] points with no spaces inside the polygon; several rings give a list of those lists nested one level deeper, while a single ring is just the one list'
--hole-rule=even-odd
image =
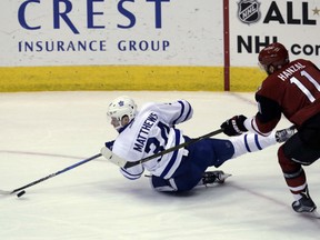
[{"label": "NHL shield logo on the white rink boards", "polygon": [[258,22],[261,17],[259,8],[260,2],[257,0],[240,0],[238,2],[238,18],[247,24]]}]

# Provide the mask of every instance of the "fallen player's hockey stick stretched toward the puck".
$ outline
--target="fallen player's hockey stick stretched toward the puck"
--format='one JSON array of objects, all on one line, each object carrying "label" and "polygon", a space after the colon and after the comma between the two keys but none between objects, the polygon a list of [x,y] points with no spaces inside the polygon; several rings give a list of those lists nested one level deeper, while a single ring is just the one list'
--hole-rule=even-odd
[{"label": "fallen player's hockey stick stretched toward the puck", "polygon": [[[38,179],[38,180],[33,181],[33,182],[30,182],[29,184],[22,186],[22,187],[17,188],[17,189],[14,189],[14,190],[12,190],[12,191],[0,190],[0,194],[13,194],[13,193],[19,192],[19,191],[21,191],[21,190],[23,190],[23,189],[27,189],[27,188],[29,188],[29,187],[31,187],[31,186],[38,184],[38,183],[40,183],[40,182],[42,182],[42,181],[46,181],[46,180],[48,180],[48,179],[50,179],[50,178],[53,178],[53,177],[58,176],[58,174],[61,174],[61,173],[63,173],[63,172],[66,172],[66,171],[69,171],[69,170],[71,170],[71,169],[73,169],[73,168],[77,168],[77,167],[79,167],[79,166],[81,166],[81,164],[84,164],[86,162],[89,162],[89,161],[91,161],[91,160],[93,160],[93,159],[97,159],[97,158],[99,158],[100,156],[101,156],[101,153],[94,154],[94,156],[92,156],[92,157],[90,157],[90,158],[88,158],[88,159],[84,159],[84,160],[82,160],[82,161],[79,161],[79,162],[77,162],[77,163],[74,163],[74,164],[72,164],[72,166],[69,166],[68,168],[64,168],[64,169],[62,169],[62,170],[60,170],[60,171],[57,171],[57,172],[54,172],[54,173],[51,173],[51,174],[49,174],[49,176],[47,176],[47,177],[44,177],[44,178]],[[20,192],[20,193],[22,193],[22,192]],[[19,194],[20,194],[20,193],[19,193]],[[23,193],[24,193],[24,192],[23,192]],[[23,194],[23,193],[22,193],[22,194]],[[19,196],[19,194],[18,194],[18,197],[22,196],[22,194],[20,194],[20,196]]]}]

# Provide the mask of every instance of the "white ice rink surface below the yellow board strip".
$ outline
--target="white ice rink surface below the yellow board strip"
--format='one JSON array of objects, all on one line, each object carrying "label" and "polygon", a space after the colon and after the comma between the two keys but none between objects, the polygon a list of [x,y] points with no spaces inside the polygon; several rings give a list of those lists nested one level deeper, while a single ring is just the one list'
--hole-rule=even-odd
[{"label": "white ice rink surface below the yellow board strip", "polygon": [[[117,136],[106,109],[121,94],[134,98],[139,106],[189,100],[193,118],[179,126],[189,137],[257,110],[254,93],[1,93],[0,189],[17,189],[99,153],[104,141]],[[289,126],[281,120],[278,129]],[[118,167],[99,158],[28,188],[19,199],[0,196],[0,239],[320,239],[320,220],[291,210],[292,197],[277,162],[278,147],[226,162],[220,169],[232,177],[224,184],[181,196],[153,191],[144,177],[127,180]],[[319,162],[306,172],[320,206]]]}]

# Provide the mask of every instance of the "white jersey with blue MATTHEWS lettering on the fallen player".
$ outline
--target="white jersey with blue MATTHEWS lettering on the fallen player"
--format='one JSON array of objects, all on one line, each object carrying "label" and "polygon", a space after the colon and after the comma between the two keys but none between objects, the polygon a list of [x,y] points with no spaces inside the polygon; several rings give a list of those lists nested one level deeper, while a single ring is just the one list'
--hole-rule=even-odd
[{"label": "white jersey with blue MATTHEWS lettering on the fallen player", "polygon": [[[183,143],[182,131],[176,129],[174,124],[189,120],[192,113],[192,107],[186,100],[147,103],[136,118],[121,129],[112,152],[133,162]],[[169,179],[184,154],[188,152],[182,148],[132,168],[121,168],[121,173],[133,180],[140,178],[146,168],[153,176]]]}]

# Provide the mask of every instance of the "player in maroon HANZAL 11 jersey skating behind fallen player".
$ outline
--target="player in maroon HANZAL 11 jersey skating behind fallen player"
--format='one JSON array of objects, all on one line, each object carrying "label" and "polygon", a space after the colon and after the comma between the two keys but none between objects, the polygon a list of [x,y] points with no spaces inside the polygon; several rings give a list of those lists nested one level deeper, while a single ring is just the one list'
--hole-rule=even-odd
[{"label": "player in maroon HANZAL 11 jersey skating behind fallen player", "polygon": [[259,111],[253,118],[234,116],[221,128],[228,136],[246,131],[268,136],[283,113],[297,129],[278,150],[286,182],[294,197],[292,208],[297,212],[313,212],[317,207],[302,166],[320,158],[320,70],[308,60],[290,61],[288,50],[279,42],[260,51],[259,63],[268,73],[256,92]]}]

